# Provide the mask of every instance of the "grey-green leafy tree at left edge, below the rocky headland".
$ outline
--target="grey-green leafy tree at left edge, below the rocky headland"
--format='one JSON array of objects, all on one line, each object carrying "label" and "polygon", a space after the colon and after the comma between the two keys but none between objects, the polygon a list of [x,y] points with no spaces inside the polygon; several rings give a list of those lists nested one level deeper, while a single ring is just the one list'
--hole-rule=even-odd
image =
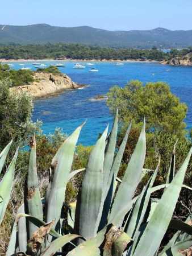
[{"label": "grey-green leafy tree at left edge, below the rocky headland", "polygon": [[36,123],[31,121],[34,108],[31,96],[27,93],[11,92],[10,87],[10,80],[0,80],[0,150],[11,139],[19,144],[28,134],[37,131]]}]

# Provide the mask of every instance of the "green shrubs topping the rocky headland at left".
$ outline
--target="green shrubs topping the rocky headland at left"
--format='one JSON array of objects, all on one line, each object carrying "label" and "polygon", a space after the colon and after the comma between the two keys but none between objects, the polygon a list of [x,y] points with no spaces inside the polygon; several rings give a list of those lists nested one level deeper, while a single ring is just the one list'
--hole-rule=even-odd
[{"label": "green shrubs topping the rocky headland at left", "polygon": [[9,65],[2,65],[0,63],[0,80],[9,78],[11,80],[10,86],[20,86],[31,84],[34,81],[33,72],[30,70],[19,69],[18,71],[14,69],[9,69]]}]

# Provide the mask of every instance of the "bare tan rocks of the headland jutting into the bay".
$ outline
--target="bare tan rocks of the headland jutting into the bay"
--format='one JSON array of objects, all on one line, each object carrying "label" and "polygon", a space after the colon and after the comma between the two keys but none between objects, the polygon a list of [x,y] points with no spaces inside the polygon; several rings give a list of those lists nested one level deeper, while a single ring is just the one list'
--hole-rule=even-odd
[{"label": "bare tan rocks of the headland jutting into the bay", "polygon": [[73,82],[70,77],[63,74],[52,75],[47,73],[34,73],[35,81],[30,85],[15,86],[10,90],[16,93],[27,92],[34,98],[49,97],[66,89],[78,89],[81,85]]}]

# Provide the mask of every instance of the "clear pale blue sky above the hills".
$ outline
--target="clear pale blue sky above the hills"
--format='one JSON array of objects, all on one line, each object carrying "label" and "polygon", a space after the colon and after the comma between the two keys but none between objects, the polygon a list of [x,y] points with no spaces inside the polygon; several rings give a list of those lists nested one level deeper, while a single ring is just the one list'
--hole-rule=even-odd
[{"label": "clear pale blue sky above the hills", "polygon": [[192,0],[0,0],[0,24],[192,30]]}]

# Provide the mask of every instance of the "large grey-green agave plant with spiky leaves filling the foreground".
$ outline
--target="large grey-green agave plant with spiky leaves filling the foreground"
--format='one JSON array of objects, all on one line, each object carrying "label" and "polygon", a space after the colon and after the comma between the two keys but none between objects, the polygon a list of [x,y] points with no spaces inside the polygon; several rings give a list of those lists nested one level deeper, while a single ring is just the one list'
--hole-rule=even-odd
[{"label": "large grey-green agave plant with spiky leaves filling the foreground", "polygon": [[[16,255],[20,252],[20,255],[48,256],[57,252],[57,255],[154,256],[168,228],[178,231],[160,255],[180,255],[183,251],[189,250],[192,244],[192,216],[184,223],[172,220],[172,215],[181,188],[191,189],[183,185],[183,179],[192,148],[176,175],[173,151],[166,184],[153,187],[158,172],[157,166],[140,195],[135,196],[137,185],[144,176],[145,121],[122,180],[119,180],[117,175],[131,124],[115,155],[117,113],[110,134],[107,135],[107,127],[95,144],[85,170],[71,172],[82,126],[62,143],[52,160],[46,199],[40,198],[36,171],[36,143],[35,138],[32,138],[24,203],[20,206],[12,225],[6,255]],[[15,159],[16,156],[14,163]],[[0,164],[2,166],[1,159]],[[70,205],[69,233],[65,234],[62,209],[65,205],[66,184],[80,171],[84,171],[84,176],[77,201]],[[12,176],[7,183],[11,188]],[[152,193],[158,189],[164,189],[164,193],[161,199],[154,202],[151,200]],[[3,198],[5,193],[1,194],[1,191],[0,187],[0,196]],[[8,196],[7,199],[9,201]],[[2,203],[0,209],[1,205]],[[1,211],[1,217],[5,207],[6,204]]]}]

